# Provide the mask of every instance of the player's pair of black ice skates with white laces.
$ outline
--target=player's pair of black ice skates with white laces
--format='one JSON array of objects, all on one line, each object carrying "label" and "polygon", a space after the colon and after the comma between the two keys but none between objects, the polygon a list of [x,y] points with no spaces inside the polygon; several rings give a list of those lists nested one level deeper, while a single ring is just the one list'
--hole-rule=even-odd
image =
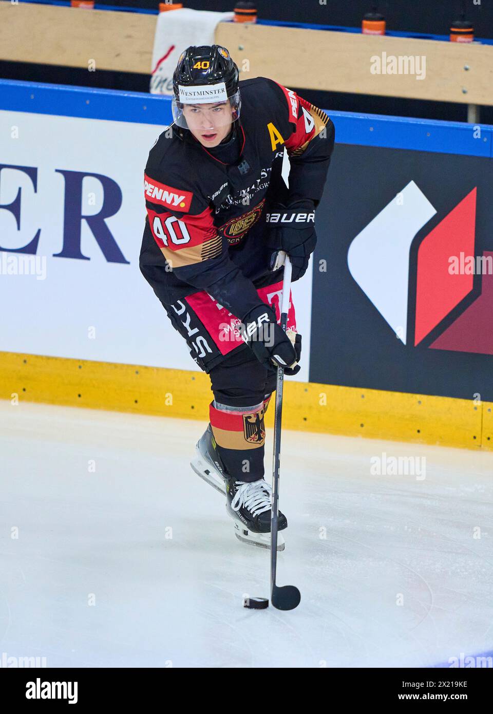
[{"label": "player's pair of black ice skates with white laces", "polygon": [[[260,481],[237,481],[229,476],[215,448],[213,431],[208,425],[195,447],[195,458],[190,461],[193,471],[226,496],[226,509],[233,518],[238,540],[259,548],[270,548],[270,511],[272,491],[269,484]],[[283,513],[279,512],[278,531],[288,526]],[[278,533],[278,550],[284,550],[285,540]]]}]

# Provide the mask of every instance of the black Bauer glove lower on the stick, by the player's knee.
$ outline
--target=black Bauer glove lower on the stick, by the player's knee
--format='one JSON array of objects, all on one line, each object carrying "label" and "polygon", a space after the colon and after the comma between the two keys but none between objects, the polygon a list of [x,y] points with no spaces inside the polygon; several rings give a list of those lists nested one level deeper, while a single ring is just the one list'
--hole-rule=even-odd
[{"label": "black Bauer glove lower on the stick, by the player's knee", "polygon": [[255,357],[269,370],[275,372],[281,366],[288,375],[300,371],[301,335],[293,330],[286,333],[270,306],[251,310],[243,320],[242,334]]}]

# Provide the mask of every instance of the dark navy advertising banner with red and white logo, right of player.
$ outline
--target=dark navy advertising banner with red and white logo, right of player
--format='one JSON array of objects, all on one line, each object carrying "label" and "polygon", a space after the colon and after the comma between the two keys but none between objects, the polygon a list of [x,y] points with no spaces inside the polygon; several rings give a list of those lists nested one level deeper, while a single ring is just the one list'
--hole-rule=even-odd
[{"label": "dark navy advertising banner with red and white logo, right of player", "polygon": [[338,144],[317,218],[310,381],[491,401],[491,159]]}]

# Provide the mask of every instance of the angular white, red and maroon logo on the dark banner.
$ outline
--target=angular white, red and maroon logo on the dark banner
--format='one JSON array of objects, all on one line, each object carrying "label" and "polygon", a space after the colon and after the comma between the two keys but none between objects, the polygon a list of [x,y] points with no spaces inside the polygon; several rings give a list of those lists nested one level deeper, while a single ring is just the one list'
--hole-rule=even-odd
[{"label": "angular white, red and maroon logo on the dark banner", "polygon": [[[493,355],[493,273],[486,268],[493,251],[476,256],[476,198],[474,186],[411,251],[437,209],[410,181],[353,238],[350,273],[402,343]],[[472,267],[467,260],[469,269],[459,268],[459,256]],[[478,265],[481,292],[473,299]]]}]

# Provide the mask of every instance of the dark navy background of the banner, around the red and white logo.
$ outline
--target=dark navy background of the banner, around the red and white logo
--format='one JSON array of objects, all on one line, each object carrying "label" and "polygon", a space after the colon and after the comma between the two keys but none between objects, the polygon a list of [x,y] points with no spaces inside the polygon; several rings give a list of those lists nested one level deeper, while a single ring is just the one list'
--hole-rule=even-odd
[{"label": "dark navy background of the banner, around the red and white logo", "polygon": [[[410,251],[407,345],[352,278],[347,250],[352,239],[387,203],[414,180],[437,209]],[[477,186],[475,254],[493,250],[493,165],[491,159],[422,151],[337,144],[324,195],[317,208],[318,246],[312,289],[310,382],[387,391],[434,394],[493,401],[493,356],[414,346],[417,248],[464,196]],[[322,228],[320,228],[322,226]],[[318,261],[327,261],[320,272]],[[434,338],[449,326],[479,294],[474,294],[434,330]],[[493,309],[493,306],[492,306]]]}]

